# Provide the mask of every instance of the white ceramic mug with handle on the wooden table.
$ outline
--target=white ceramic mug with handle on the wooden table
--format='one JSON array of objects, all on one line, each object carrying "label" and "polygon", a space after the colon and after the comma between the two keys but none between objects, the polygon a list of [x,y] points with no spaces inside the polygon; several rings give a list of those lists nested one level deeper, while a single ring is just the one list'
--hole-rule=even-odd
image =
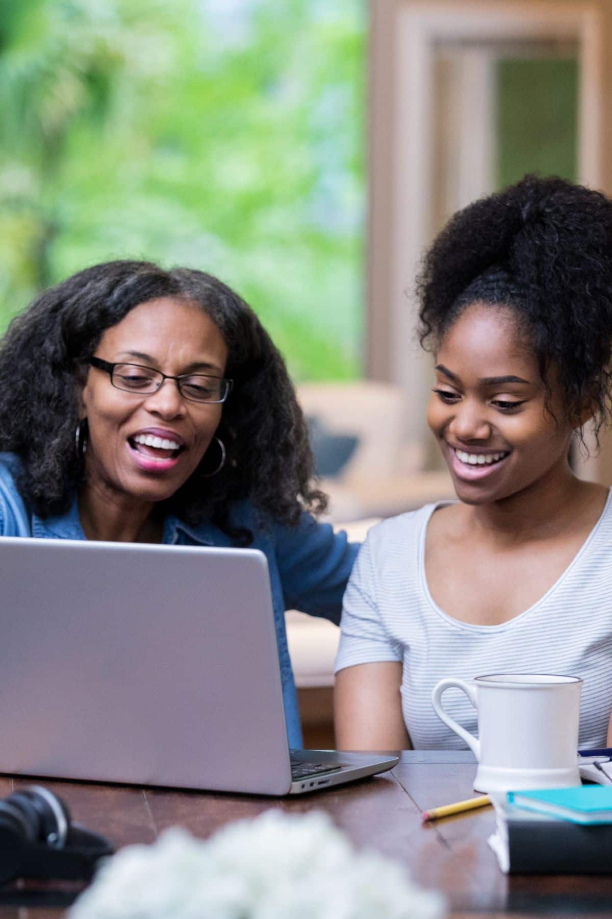
[{"label": "white ceramic mug with handle on the wooden table", "polygon": [[[442,708],[450,686],[462,689],[478,711],[480,740]],[[477,791],[564,788],[580,785],[582,687],[578,676],[493,674],[469,683],[449,677],[434,687],[431,701],[438,717],[472,748]]]}]

